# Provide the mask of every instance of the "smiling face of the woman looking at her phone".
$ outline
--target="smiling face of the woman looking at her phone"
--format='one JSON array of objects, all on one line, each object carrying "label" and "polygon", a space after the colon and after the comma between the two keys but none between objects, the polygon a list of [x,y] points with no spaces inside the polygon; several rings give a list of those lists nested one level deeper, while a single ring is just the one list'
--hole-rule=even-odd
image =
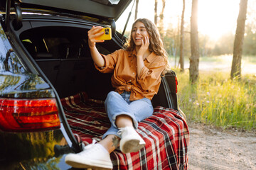
[{"label": "smiling face of the woman looking at her phone", "polygon": [[149,37],[149,33],[146,31],[144,23],[137,22],[132,28],[132,40],[136,46],[142,45],[142,40],[145,42],[145,38]]}]

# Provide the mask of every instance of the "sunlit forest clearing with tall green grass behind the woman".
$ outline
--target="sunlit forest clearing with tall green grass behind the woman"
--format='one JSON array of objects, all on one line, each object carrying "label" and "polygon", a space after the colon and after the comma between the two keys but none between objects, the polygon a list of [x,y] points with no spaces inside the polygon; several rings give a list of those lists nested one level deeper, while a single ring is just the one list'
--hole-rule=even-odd
[{"label": "sunlit forest clearing with tall green grass behind the woman", "polygon": [[[191,83],[192,3],[197,1],[198,79]],[[240,3],[246,1],[240,77],[230,72],[234,60]],[[137,9],[136,9],[137,4]],[[133,6],[133,7],[132,7]],[[136,18],[156,23],[178,77],[178,103],[188,120],[222,128],[256,129],[256,1],[255,0],[134,0],[117,21],[124,35]],[[137,11],[137,14],[136,14]],[[183,15],[183,50],[181,24]],[[181,69],[181,55],[185,60]]]}]

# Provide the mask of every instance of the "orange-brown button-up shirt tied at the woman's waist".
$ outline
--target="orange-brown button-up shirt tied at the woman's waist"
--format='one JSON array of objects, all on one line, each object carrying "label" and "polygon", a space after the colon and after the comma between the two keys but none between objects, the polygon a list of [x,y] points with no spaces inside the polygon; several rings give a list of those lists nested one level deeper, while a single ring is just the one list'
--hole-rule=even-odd
[{"label": "orange-brown button-up shirt tied at the woman's waist", "polygon": [[113,72],[112,86],[119,94],[131,91],[130,101],[149,98],[159,91],[161,73],[165,69],[164,57],[157,56],[154,52],[144,60],[145,67],[142,68],[140,77],[137,76],[137,53],[134,50],[117,50],[110,55],[102,55],[105,67],[95,67],[102,73]]}]

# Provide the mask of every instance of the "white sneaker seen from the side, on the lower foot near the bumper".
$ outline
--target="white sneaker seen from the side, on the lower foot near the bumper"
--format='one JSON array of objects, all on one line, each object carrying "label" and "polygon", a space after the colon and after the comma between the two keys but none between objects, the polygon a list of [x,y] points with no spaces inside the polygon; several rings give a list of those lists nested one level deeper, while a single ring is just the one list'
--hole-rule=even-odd
[{"label": "white sneaker seen from the side, on the lower foot near the bumper", "polygon": [[78,154],[68,154],[65,163],[74,168],[112,169],[110,154],[100,144],[95,145],[95,142],[85,146]]}]

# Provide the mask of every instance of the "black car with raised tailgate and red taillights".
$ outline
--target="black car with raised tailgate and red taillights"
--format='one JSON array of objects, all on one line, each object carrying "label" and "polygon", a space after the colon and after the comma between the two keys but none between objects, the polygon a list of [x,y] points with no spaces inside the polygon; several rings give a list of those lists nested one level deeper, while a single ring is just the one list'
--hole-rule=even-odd
[{"label": "black car with raised tailgate and red taillights", "polygon": [[[78,127],[74,128],[73,121],[78,120],[70,118],[69,113],[81,109],[75,108],[74,98],[104,101],[113,90],[112,74],[95,69],[87,30],[92,26],[111,28],[112,39],[97,43],[102,54],[122,48],[126,38],[117,32],[115,21],[131,2],[0,2],[0,169],[71,168],[65,164],[65,155],[82,151],[88,143],[78,134]],[[170,71],[152,103],[176,114],[186,139],[177,84],[175,72]],[[184,142],[188,145],[188,140]],[[187,166],[186,146],[183,149],[184,160],[177,167]]]}]

